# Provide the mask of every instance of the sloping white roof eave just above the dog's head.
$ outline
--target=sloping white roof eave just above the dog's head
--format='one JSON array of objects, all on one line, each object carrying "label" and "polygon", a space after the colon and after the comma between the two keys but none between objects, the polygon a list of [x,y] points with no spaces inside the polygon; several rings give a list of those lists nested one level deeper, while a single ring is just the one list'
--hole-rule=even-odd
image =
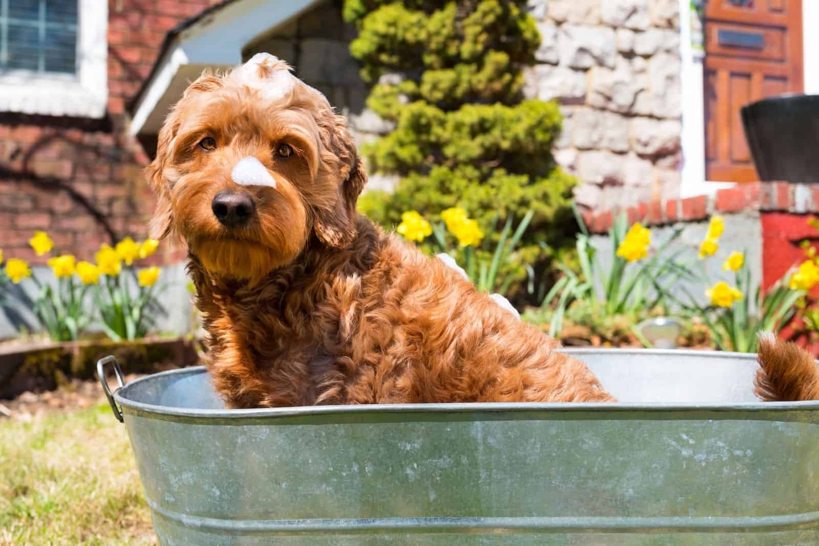
[{"label": "sloping white roof eave just above the dog's head", "polygon": [[236,0],[207,12],[175,35],[131,111],[132,135],[155,134],[168,109],[201,71],[242,63],[242,48],[319,0]]}]

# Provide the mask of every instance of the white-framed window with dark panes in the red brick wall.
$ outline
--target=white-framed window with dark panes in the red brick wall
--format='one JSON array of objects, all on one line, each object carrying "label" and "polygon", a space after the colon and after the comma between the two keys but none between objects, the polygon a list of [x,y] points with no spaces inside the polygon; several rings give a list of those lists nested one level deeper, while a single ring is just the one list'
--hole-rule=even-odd
[{"label": "white-framed window with dark panes in the red brick wall", "polygon": [[106,0],[0,0],[0,112],[102,118]]}]

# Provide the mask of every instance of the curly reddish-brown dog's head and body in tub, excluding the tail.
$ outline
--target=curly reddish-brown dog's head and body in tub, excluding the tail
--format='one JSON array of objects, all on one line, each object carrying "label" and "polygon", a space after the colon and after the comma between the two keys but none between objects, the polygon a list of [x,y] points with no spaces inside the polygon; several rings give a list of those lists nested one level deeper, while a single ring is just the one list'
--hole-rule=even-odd
[{"label": "curly reddish-brown dog's head and body in tub, excluding the tail", "polygon": [[613,401],[586,365],[355,211],[346,120],[260,54],[203,74],[147,168],[152,236],[188,244],[229,407]]}]

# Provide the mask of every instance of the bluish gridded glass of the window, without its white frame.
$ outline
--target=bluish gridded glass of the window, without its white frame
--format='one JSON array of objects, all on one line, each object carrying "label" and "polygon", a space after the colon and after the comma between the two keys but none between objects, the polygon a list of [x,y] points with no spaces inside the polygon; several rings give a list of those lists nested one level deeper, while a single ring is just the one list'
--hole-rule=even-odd
[{"label": "bluish gridded glass of the window, without its white frame", "polygon": [[0,70],[75,74],[77,2],[0,0]]}]

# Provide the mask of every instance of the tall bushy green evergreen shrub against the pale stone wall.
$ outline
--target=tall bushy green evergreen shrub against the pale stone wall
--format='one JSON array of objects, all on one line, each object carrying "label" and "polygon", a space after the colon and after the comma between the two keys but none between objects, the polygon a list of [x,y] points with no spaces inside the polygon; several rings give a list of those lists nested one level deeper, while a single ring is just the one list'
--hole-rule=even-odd
[{"label": "tall bushy green evergreen shrub against the pale stone wall", "polygon": [[359,31],[351,53],[374,83],[367,105],[396,124],[363,151],[371,168],[400,183],[391,194],[365,194],[360,210],[389,229],[408,210],[437,222],[459,206],[493,243],[509,218],[531,210],[516,254],[542,276],[571,246],[576,180],[550,152],[559,106],[523,101],[523,68],[541,41],[526,4],[346,0],[344,16]]}]

